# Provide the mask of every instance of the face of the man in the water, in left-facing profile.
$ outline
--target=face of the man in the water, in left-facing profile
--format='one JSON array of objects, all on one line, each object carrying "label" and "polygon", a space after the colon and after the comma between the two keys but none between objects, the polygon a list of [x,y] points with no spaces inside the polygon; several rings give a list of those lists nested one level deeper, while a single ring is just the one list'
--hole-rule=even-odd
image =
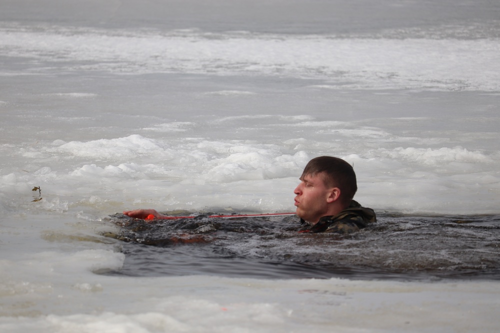
[{"label": "face of the man in the water, in left-facing profile", "polygon": [[324,184],[322,174],[305,175],[300,178],[300,184],[293,191],[297,215],[302,219],[316,223],[328,213],[327,199],[331,189]]}]

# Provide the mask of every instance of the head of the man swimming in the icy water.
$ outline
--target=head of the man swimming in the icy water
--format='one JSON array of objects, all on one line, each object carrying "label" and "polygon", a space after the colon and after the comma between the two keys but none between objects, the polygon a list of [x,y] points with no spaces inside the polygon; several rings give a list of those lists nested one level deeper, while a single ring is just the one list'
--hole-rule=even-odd
[{"label": "head of the man swimming in the icy water", "polygon": [[310,160],[300,181],[294,191],[297,215],[312,223],[347,208],[357,190],[349,163],[331,156]]}]

